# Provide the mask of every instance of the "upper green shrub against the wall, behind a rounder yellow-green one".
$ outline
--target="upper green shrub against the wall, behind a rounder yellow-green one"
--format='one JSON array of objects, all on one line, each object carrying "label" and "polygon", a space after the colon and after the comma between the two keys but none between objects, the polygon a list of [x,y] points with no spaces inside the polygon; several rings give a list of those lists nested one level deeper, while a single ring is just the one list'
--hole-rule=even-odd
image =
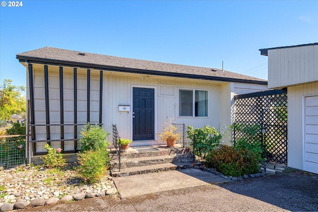
[{"label": "upper green shrub against the wall, behind a rounder yellow-green one", "polygon": [[104,149],[109,146],[109,142],[107,142],[109,133],[105,132],[105,130],[97,124],[85,124],[80,135],[80,151]]}]

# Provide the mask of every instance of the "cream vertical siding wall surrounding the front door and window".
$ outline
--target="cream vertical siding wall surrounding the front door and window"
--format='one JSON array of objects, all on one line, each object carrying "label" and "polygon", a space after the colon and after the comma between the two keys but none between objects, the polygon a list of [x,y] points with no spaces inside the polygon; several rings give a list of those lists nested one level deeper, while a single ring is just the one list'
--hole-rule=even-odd
[{"label": "cream vertical siding wall surrounding the front door and window", "polygon": [[[171,78],[170,78],[171,79]],[[141,77],[124,77],[124,76],[103,76],[103,127],[110,131],[112,124],[117,125],[119,135],[122,138],[132,138],[132,88],[144,87],[155,89],[155,133],[162,130],[162,125],[167,121],[167,117],[174,118],[176,123],[185,123],[193,127],[203,127],[204,125],[220,125],[221,110],[221,88],[220,85],[203,84],[188,81],[173,81],[152,79],[142,80]],[[209,117],[178,117],[178,90],[179,89],[198,89],[209,92]],[[107,94],[107,96],[105,96]],[[131,111],[119,111],[118,105],[129,105]],[[139,144],[151,145],[161,144],[156,141],[138,141]],[[133,144],[134,145],[134,142]]]}]

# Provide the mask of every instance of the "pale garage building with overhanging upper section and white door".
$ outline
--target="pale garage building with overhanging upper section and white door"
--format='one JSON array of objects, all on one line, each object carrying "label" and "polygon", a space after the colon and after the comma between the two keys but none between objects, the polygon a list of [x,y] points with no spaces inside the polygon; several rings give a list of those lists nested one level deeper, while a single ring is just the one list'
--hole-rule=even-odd
[{"label": "pale garage building with overhanging upper section and white door", "polygon": [[260,53],[268,56],[268,88],[287,88],[287,165],[318,174],[318,43]]}]

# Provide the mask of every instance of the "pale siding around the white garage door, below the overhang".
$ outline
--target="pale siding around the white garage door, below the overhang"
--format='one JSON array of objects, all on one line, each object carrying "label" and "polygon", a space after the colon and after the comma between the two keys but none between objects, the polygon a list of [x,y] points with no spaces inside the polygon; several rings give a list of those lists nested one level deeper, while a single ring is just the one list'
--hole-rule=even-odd
[{"label": "pale siding around the white garage door, below the overhang", "polygon": [[318,95],[318,82],[288,87],[288,155],[287,165],[303,170],[304,97]]}]

